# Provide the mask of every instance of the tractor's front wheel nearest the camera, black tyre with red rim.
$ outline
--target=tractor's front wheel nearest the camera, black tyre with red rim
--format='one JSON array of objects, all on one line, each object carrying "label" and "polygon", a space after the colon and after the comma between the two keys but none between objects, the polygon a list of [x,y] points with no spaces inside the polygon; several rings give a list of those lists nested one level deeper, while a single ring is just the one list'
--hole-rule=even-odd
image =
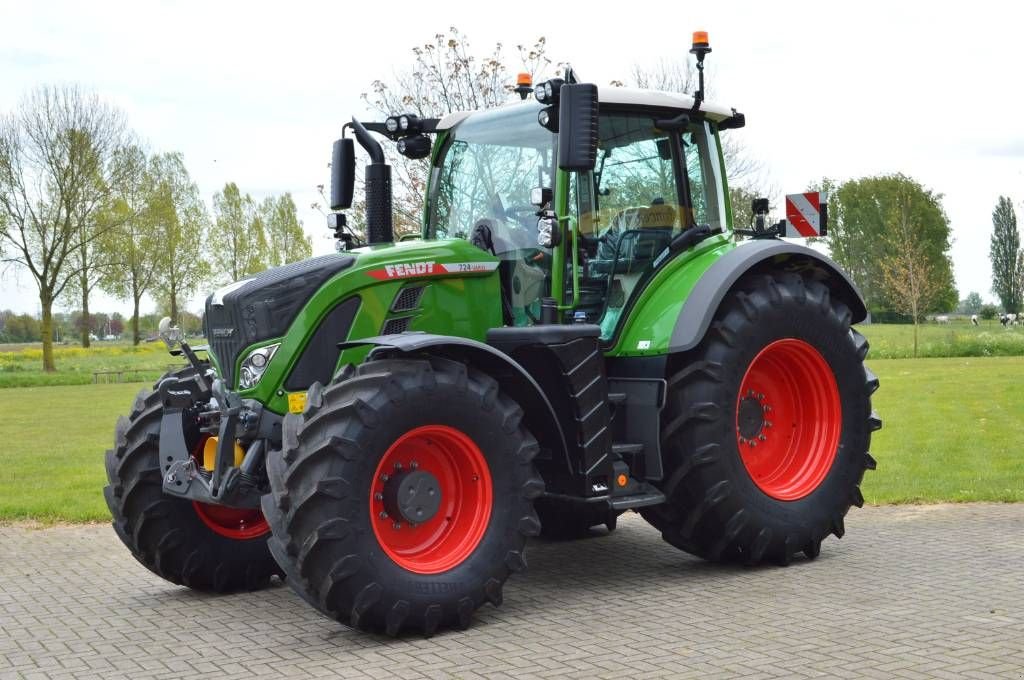
[{"label": "tractor's front wheel nearest the camera, black tyre with red rim", "polygon": [[493,378],[436,357],[314,384],[267,462],[263,511],[288,584],[328,617],[388,635],[466,628],[483,602],[500,604],[541,529],[522,415]]}]

